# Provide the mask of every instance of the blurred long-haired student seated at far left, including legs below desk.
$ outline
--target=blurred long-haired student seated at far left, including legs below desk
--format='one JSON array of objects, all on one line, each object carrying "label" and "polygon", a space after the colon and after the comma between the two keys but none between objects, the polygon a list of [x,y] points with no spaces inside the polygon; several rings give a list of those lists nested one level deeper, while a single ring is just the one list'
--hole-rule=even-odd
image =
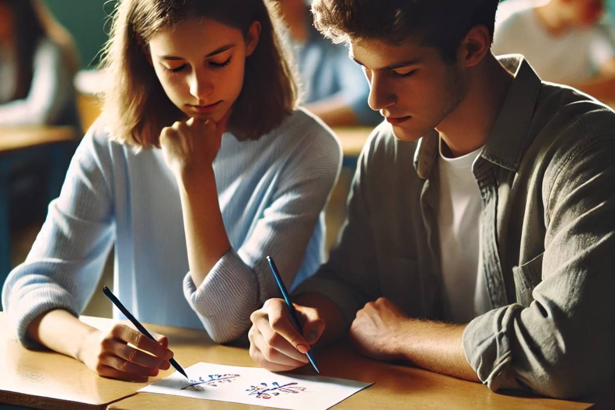
[{"label": "blurred long-haired student seated at far left, including legs below desk", "polygon": [[[71,36],[46,4],[0,0],[0,140],[9,136],[7,127],[78,128],[73,87],[78,64]],[[65,173],[75,148],[76,143],[56,145],[53,151],[33,146],[22,149],[18,156],[0,158],[6,184],[1,194],[9,198],[12,229],[32,219],[42,220],[49,197],[60,189],[60,180],[56,183],[50,175]]]}]

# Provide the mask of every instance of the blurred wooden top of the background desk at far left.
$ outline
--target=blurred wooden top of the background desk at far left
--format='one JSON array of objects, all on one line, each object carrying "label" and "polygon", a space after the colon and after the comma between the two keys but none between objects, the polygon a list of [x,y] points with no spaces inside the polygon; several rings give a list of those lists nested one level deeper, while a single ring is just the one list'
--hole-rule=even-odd
[{"label": "blurred wooden top of the background desk at far left", "polygon": [[75,141],[79,138],[75,127],[58,126],[0,126],[0,154],[42,144]]}]

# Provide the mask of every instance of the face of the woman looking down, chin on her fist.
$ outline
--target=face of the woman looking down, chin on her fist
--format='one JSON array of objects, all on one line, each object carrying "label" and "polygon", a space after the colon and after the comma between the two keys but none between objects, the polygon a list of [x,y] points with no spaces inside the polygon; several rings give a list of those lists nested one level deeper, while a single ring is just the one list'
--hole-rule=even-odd
[{"label": "face of the woman looking down, chin on her fist", "polygon": [[258,22],[244,38],[211,18],[192,18],[151,38],[151,63],[167,97],[186,116],[218,122],[239,97],[245,58],[259,34]]}]

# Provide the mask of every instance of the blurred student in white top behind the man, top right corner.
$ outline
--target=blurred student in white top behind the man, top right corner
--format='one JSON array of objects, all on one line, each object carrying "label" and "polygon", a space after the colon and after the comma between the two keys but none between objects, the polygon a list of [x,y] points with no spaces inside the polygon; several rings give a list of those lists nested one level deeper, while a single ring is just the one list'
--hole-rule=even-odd
[{"label": "blurred student in white top behind the man, top right corner", "polygon": [[544,81],[615,102],[615,49],[600,25],[603,0],[507,0],[496,16],[493,53],[521,53]]}]

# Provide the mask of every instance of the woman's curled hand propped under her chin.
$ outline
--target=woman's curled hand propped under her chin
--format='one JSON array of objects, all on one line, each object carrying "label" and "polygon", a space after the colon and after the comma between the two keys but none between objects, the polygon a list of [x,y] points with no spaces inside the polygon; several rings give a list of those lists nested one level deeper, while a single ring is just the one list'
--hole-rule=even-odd
[{"label": "woman's curled hand propped under her chin", "polygon": [[162,128],[160,146],[167,167],[175,178],[194,175],[211,169],[213,160],[220,150],[222,134],[226,130],[229,110],[219,122],[190,118],[175,121],[170,127]]}]

